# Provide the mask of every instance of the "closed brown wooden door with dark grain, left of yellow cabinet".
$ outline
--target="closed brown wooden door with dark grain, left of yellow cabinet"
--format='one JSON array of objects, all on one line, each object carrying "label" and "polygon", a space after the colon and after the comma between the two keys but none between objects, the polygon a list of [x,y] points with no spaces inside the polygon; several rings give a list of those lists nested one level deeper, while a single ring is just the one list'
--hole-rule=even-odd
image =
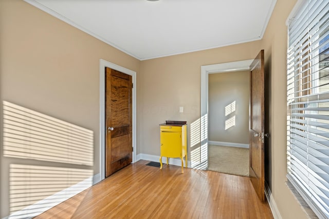
[{"label": "closed brown wooden door with dark grain, left of yellow cabinet", "polygon": [[105,69],[105,176],[132,162],[132,76]]}]

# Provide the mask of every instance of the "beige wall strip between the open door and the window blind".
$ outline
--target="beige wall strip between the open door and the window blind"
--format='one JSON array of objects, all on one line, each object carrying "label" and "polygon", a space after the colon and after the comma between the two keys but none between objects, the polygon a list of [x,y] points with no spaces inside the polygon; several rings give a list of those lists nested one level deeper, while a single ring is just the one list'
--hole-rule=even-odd
[{"label": "beige wall strip between the open door and the window blind", "polygon": [[267,131],[266,181],[280,210],[282,218],[307,218],[294,195],[286,186],[286,54],[287,26],[290,11],[297,0],[278,0],[262,40],[265,50]]}]

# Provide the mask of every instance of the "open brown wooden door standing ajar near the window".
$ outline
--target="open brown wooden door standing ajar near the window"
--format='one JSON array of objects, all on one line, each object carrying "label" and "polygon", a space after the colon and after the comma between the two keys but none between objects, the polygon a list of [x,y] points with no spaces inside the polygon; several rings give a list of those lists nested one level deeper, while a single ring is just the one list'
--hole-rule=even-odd
[{"label": "open brown wooden door standing ajar near the window", "polygon": [[264,50],[250,65],[249,174],[259,198],[264,192]]}]

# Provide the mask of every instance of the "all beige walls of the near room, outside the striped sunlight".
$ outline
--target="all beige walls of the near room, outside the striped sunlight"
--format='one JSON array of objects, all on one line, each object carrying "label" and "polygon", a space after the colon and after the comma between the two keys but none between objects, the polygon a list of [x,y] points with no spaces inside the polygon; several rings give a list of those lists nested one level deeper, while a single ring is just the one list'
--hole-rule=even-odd
[{"label": "all beige walls of the near room, outside the striped sunlight", "polygon": [[[266,148],[266,180],[283,218],[306,218],[285,185],[285,20],[295,3],[296,0],[277,1],[261,41],[140,62],[23,1],[1,0],[1,101],[94,131],[92,169],[96,174],[99,172],[100,58],[137,72],[137,154],[157,156],[160,152],[158,124],[165,120],[184,120],[190,125],[200,116],[200,66],[254,58],[260,49],[265,49],[266,122],[267,131],[271,133]],[[180,106],[184,107],[184,113],[179,113]],[[190,135],[188,139],[190,146]],[[0,142],[2,144],[2,139]],[[10,163],[22,161],[3,156],[1,160],[0,216],[5,216],[7,168]],[[24,162],[31,164],[28,160]]]}]

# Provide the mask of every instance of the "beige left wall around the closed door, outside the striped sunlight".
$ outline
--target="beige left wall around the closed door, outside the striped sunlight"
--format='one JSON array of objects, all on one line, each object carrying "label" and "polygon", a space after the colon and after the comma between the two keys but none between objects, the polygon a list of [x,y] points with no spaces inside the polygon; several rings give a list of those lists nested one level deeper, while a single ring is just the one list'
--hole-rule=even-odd
[{"label": "beige left wall around the closed door, outside the striped sunlight", "polygon": [[[92,130],[90,168],[99,173],[99,59],[136,71],[137,84],[140,61],[18,0],[0,1],[0,48],[0,111],[5,100]],[[3,157],[0,151],[1,217],[8,215],[9,164],[76,167]]]}]

